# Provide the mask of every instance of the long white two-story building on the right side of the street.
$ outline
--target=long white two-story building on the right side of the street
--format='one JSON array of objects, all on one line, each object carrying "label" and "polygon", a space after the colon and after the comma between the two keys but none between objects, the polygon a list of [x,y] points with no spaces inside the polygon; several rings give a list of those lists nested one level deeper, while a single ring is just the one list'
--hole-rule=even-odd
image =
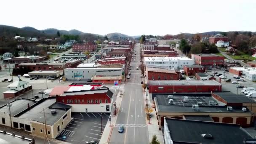
[{"label": "long white two-story building on the right side of the street", "polygon": [[170,69],[183,69],[184,65],[193,65],[195,61],[186,56],[172,57],[145,57],[147,66],[170,67]]}]

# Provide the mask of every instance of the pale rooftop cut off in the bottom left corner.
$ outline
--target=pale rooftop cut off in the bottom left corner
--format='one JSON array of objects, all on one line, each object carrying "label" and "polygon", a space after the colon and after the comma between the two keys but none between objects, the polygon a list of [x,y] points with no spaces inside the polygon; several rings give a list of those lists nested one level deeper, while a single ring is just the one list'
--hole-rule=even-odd
[{"label": "pale rooftop cut off in the bottom left corner", "polygon": [[22,139],[21,136],[12,136],[12,133],[0,131],[0,144],[34,144],[32,139]]}]

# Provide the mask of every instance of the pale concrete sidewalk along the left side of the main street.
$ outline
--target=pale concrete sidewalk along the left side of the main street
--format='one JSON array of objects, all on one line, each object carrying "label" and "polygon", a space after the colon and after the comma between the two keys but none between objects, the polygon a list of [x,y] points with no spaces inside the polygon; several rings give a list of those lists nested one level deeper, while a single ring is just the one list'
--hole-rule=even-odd
[{"label": "pale concrete sidewalk along the left side of the main street", "polygon": [[[124,93],[124,90],[122,91],[122,93]],[[116,120],[117,120],[117,115],[119,112],[119,108],[121,106],[122,99],[123,99],[123,96],[120,97],[120,94],[117,93],[117,98],[115,100],[116,106],[117,106],[117,113],[116,113],[116,115],[114,115],[115,107],[113,107],[113,110],[111,113],[111,125],[112,126],[110,126],[110,120],[108,120],[106,127],[104,128],[103,134],[101,135],[101,140],[99,141],[99,144],[108,144],[109,143],[111,133],[113,131],[113,128],[114,128]]]}]

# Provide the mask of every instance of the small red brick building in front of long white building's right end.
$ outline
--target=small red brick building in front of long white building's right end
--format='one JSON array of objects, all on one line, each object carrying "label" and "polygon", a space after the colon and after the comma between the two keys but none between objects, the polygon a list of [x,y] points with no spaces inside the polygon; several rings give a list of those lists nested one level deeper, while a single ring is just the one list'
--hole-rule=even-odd
[{"label": "small red brick building in front of long white building's right end", "polygon": [[201,65],[184,65],[185,75],[195,76],[196,73],[205,73],[205,67]]}]

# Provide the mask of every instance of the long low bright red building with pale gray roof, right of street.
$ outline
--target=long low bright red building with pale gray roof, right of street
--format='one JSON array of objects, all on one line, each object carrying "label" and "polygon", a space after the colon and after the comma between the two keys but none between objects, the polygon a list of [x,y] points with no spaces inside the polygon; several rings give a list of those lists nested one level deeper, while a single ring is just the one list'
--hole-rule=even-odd
[{"label": "long low bright red building with pale gray roof, right of street", "polygon": [[149,80],[149,93],[197,93],[221,91],[215,80]]}]

